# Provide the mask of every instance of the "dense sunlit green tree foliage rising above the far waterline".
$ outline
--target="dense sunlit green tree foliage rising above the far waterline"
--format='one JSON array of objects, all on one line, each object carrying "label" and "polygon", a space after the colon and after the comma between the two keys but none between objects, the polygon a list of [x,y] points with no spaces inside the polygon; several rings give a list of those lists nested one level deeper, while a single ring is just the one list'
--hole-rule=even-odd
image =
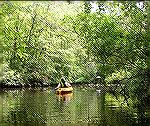
[{"label": "dense sunlit green tree foliage rising above the far waterline", "polygon": [[94,83],[99,76],[126,96],[150,92],[150,2],[0,4],[1,83],[54,84],[61,75]]}]

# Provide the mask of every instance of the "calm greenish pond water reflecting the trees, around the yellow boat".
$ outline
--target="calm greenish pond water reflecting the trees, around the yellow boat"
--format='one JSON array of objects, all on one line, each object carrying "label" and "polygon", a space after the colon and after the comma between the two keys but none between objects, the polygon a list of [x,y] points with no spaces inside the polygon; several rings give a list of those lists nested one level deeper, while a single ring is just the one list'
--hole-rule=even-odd
[{"label": "calm greenish pond water reflecting the trees, around the yellow boat", "polygon": [[0,126],[149,126],[146,112],[139,113],[92,89],[63,96],[50,88],[0,92]]}]

